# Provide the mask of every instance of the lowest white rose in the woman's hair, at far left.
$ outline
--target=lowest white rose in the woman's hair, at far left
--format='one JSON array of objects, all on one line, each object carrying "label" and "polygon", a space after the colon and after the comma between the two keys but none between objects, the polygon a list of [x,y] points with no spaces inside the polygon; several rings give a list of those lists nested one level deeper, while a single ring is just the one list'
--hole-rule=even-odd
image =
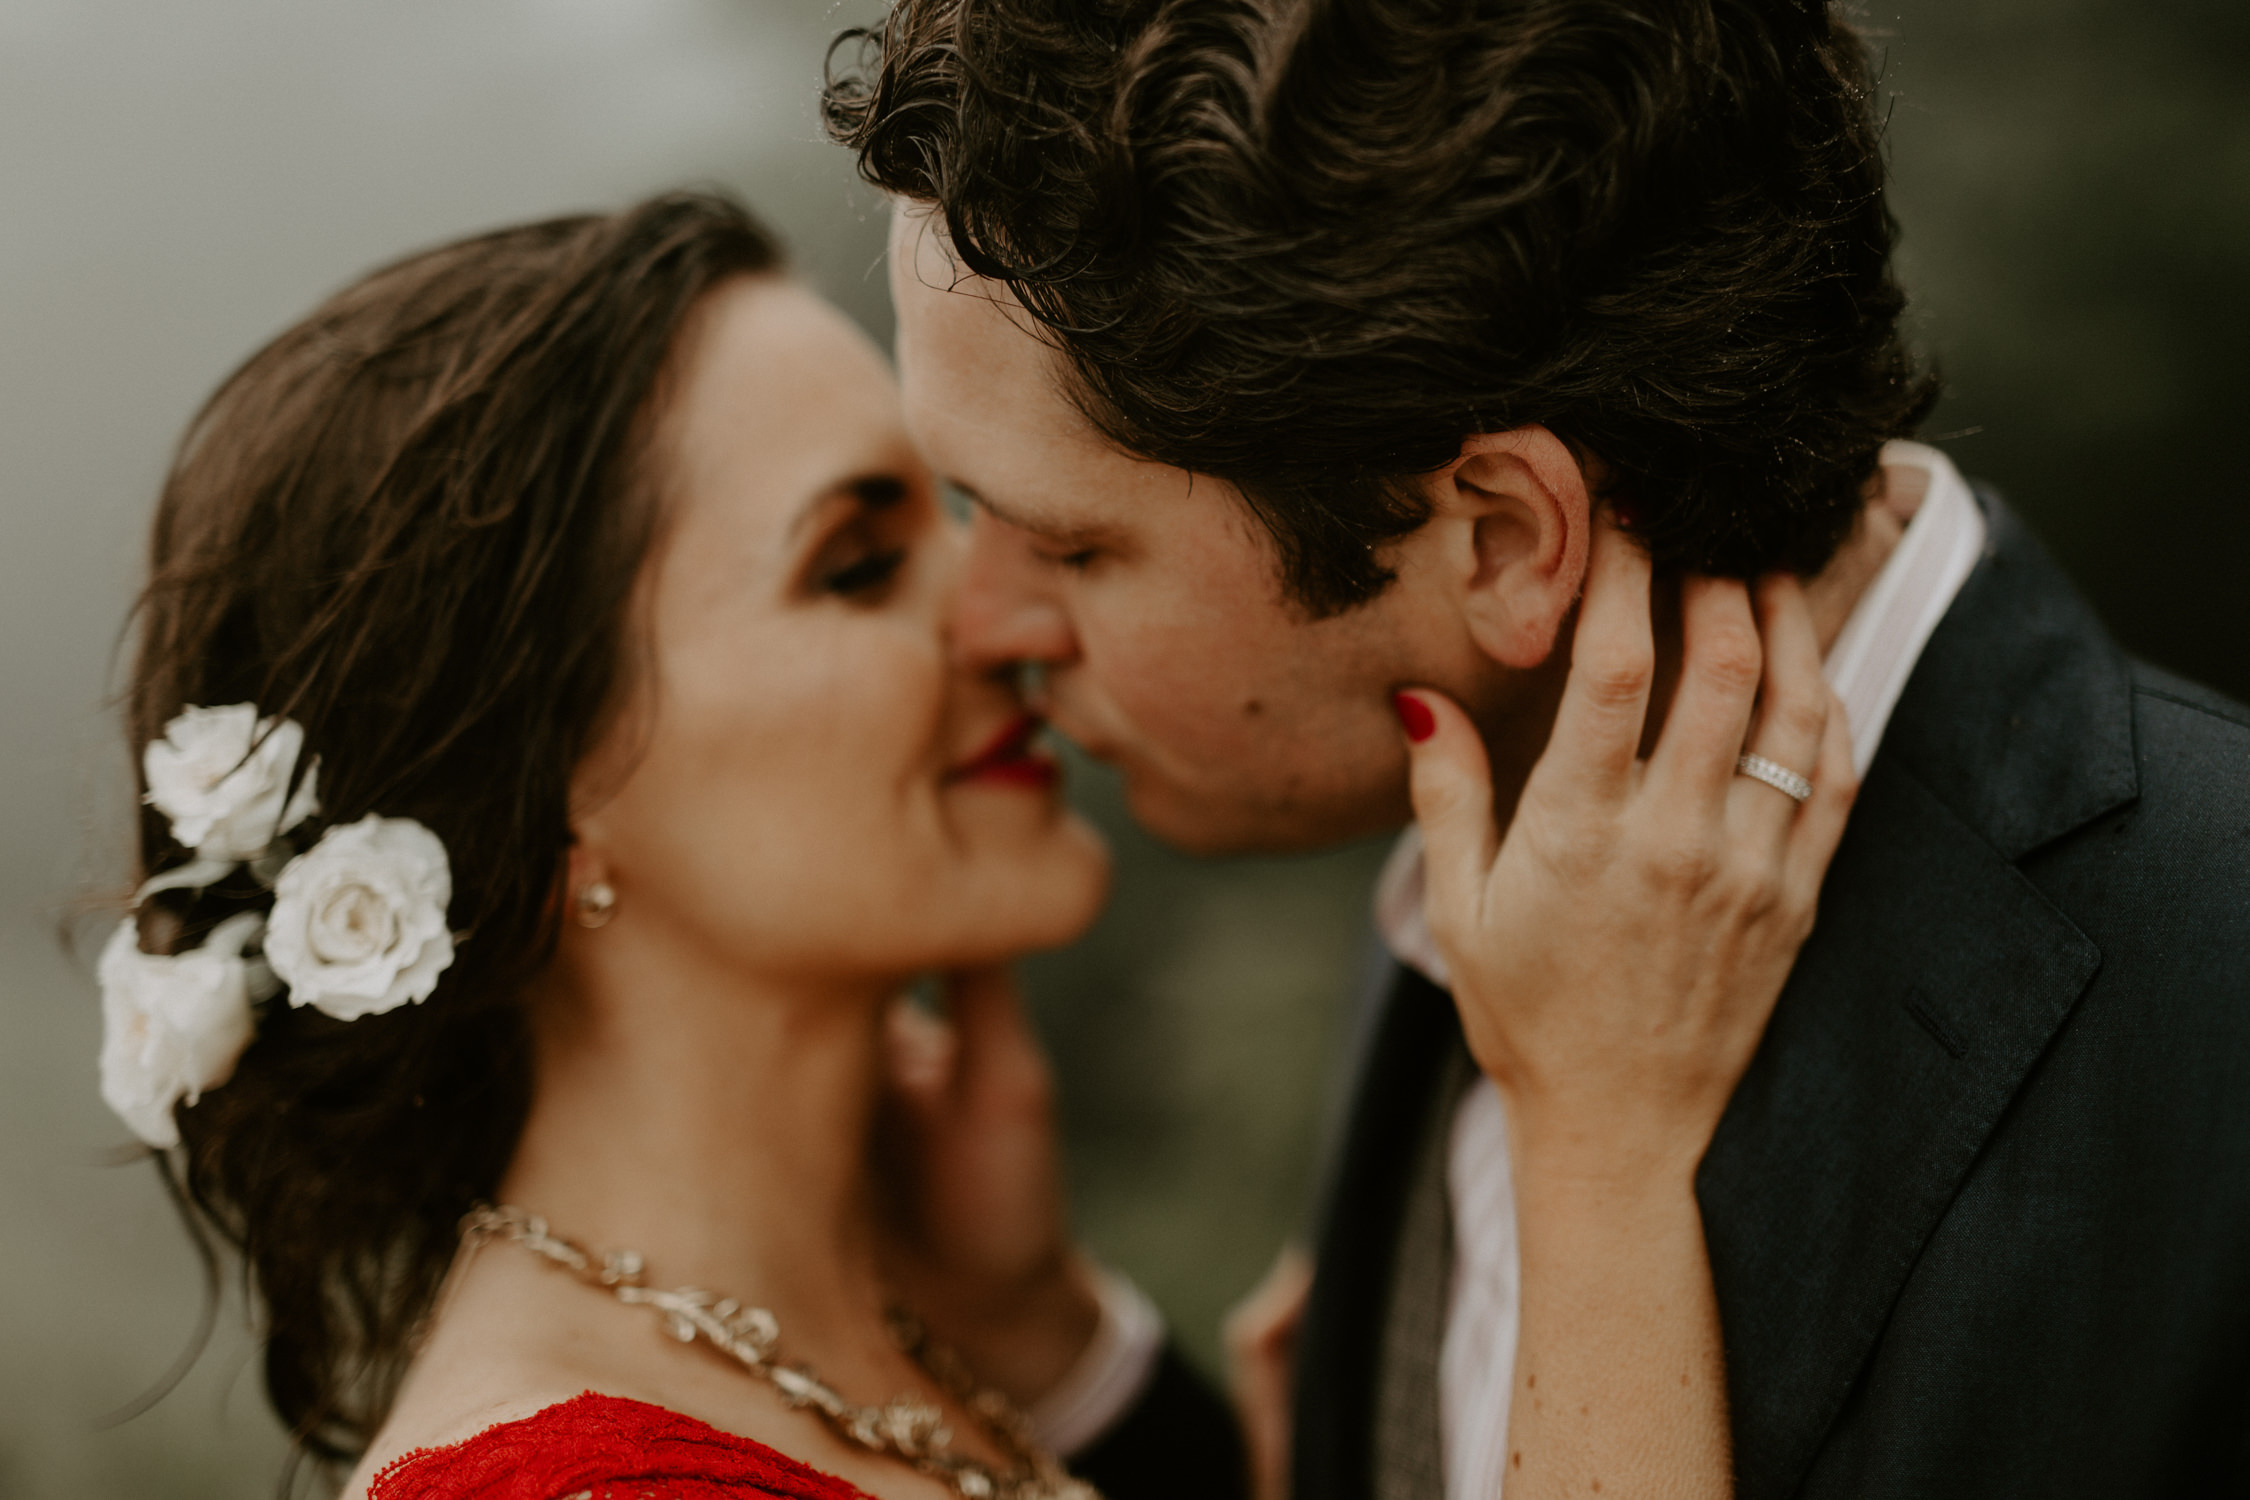
[{"label": "lowest white rose in the woman's hair, at far left", "polygon": [[180,1145],[171,1106],[194,1104],[250,1046],[243,945],[261,918],[220,922],[189,954],[142,954],[126,918],[101,951],[101,1100],[153,1147]]}]

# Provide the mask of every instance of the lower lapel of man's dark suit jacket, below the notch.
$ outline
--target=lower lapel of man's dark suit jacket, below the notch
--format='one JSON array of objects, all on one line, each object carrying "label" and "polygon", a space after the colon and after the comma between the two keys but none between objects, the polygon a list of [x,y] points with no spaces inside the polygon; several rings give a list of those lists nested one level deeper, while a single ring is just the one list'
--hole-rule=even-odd
[{"label": "lower lapel of man's dark suit jacket, below the notch", "polygon": [[1796,1487],[2097,965],[1924,787],[1870,774],[1820,927],[1696,1181],[1744,1500]]}]

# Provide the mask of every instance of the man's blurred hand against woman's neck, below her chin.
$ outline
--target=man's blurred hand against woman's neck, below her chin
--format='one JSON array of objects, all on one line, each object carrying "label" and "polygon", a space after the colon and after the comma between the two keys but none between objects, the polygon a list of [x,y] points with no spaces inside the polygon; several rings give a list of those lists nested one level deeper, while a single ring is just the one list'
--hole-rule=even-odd
[{"label": "man's blurred hand against woman's neck, below her chin", "polygon": [[900,1001],[884,1041],[884,1271],[932,1334],[1030,1406],[1094,1338],[1100,1300],[1069,1237],[1053,1077],[1015,976],[947,976],[945,1016]]}]

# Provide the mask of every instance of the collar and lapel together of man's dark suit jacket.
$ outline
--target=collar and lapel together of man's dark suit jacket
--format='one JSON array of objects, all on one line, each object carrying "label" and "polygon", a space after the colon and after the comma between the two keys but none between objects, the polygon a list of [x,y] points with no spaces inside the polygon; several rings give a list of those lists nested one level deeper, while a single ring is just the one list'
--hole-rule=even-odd
[{"label": "collar and lapel together of man's dark suit jacket", "polygon": [[2099,951],[2016,868],[2135,792],[2124,663],[2007,510],[1696,1178],[1744,1500],[1802,1478]]}]

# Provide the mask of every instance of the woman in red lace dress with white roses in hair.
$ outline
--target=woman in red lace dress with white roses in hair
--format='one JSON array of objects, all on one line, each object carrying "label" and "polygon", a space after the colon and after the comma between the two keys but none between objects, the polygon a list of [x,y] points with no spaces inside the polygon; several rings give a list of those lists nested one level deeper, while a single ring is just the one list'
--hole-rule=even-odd
[{"label": "woman in red lace dress with white roses in hair", "polygon": [[[148,882],[104,956],[104,1091],[248,1259],[268,1392],[349,1496],[1076,1493],[1010,1406],[1096,1313],[992,967],[1082,931],[1107,870],[1012,686],[947,659],[956,546],[878,353],[700,196],[382,270],[196,421],[130,686]],[[1598,663],[1645,645],[1634,555],[1604,542]],[[1768,594],[1766,699],[1825,704]],[[1748,618],[1732,585],[1699,607]],[[1528,1493],[1652,1435],[1726,1484],[1692,1154],[1649,1142],[1708,1136],[1840,825],[1728,821],[1748,681],[1647,762],[1611,688],[1573,677],[1575,769],[1516,825],[1591,834],[1528,893],[1546,850],[1492,848],[1458,711],[1400,706],[1534,1185],[1523,1367],[1600,1383],[1602,1293],[1683,1293],[1631,1336],[1690,1394],[1667,1365],[1534,1426]],[[1665,776],[1717,812],[1658,828],[1634,789]],[[1762,900],[1672,900],[1647,875],[1681,839]],[[868,1163],[920,974],[958,976],[1006,1120],[994,1212],[916,1235]],[[1652,1203],[1654,1248],[1620,1232]]]}]

